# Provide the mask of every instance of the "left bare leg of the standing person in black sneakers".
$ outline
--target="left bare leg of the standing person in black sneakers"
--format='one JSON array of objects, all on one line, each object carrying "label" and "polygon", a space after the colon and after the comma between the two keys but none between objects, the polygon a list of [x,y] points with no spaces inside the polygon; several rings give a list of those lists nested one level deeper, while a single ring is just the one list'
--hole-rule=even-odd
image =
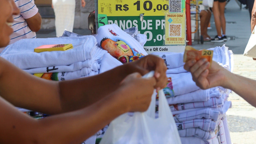
[{"label": "left bare leg of the standing person in black sneakers", "polygon": [[220,24],[220,12],[219,12],[219,2],[213,2],[213,7],[212,7],[212,12],[214,15],[214,22],[215,22],[215,27],[216,31],[219,37],[221,37],[221,24]]}]

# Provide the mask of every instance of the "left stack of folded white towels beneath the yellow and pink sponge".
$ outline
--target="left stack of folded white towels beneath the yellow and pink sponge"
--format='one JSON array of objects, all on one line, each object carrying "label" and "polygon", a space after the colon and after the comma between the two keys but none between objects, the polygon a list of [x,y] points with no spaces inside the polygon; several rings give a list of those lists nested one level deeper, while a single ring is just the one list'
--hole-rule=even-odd
[{"label": "left stack of folded white towels beneath the yellow and pink sponge", "polygon": [[[72,44],[74,48],[34,52],[48,44]],[[22,39],[7,46],[0,56],[30,74],[57,81],[97,75],[103,57],[110,57],[97,46],[94,36]]]}]

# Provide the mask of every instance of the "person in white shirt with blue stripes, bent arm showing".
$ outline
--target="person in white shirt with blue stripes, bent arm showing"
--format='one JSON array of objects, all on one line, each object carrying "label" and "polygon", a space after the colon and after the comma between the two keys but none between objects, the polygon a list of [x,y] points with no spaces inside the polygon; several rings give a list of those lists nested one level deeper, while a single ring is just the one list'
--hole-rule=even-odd
[{"label": "person in white shirt with blue stripes, bent arm showing", "polygon": [[[34,0],[14,0],[14,2],[20,13],[13,15],[13,33],[10,35],[9,44],[24,38],[36,38],[36,32],[41,28],[41,15]],[[0,48],[0,52],[4,48]]]}]

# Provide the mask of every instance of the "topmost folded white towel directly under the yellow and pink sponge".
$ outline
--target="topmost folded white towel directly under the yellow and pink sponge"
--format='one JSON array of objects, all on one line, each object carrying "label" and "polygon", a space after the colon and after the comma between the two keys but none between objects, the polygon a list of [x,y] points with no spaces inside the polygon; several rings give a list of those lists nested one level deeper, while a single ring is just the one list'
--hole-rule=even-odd
[{"label": "topmost folded white towel directly under the yellow and pink sponge", "polygon": [[[66,51],[34,52],[34,48],[48,44],[72,44]],[[21,69],[71,65],[91,59],[98,51],[94,36],[22,39],[5,48],[0,54]]]}]

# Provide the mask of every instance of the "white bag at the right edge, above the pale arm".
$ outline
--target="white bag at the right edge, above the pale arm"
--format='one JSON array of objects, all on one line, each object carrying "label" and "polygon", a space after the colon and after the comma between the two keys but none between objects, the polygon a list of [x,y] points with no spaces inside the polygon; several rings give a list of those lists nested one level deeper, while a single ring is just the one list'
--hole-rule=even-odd
[{"label": "white bag at the right edge, above the pale arm", "polygon": [[249,41],[246,45],[246,48],[244,50],[243,55],[244,56],[248,56],[248,57],[253,57],[256,58],[256,31],[255,31],[255,27],[252,30],[252,34],[249,38]]}]

